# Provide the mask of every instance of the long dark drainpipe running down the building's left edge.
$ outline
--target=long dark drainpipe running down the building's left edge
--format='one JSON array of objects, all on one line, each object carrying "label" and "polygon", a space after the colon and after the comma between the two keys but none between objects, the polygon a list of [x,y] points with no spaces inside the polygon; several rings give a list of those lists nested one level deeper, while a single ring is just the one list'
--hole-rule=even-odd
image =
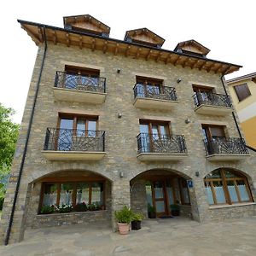
[{"label": "long dark drainpipe running down the building's left edge", "polygon": [[9,236],[10,236],[12,224],[13,224],[13,221],[14,221],[15,206],[16,206],[16,202],[17,202],[17,198],[18,198],[19,189],[20,189],[20,179],[21,179],[21,175],[22,175],[23,167],[24,167],[24,162],[25,162],[25,158],[26,158],[26,150],[27,150],[27,145],[28,145],[30,132],[31,132],[31,127],[32,127],[32,119],[33,119],[33,115],[34,115],[35,107],[36,107],[36,102],[37,102],[37,98],[38,98],[39,84],[41,82],[41,77],[42,77],[42,73],[43,73],[44,59],[45,59],[46,51],[47,51],[47,41],[46,41],[45,26],[44,26],[44,55],[43,55],[43,60],[42,60],[40,71],[39,71],[38,83],[37,83],[37,87],[36,87],[35,96],[34,96],[34,99],[33,99],[32,112],[31,112],[31,115],[30,115],[29,124],[28,124],[27,132],[26,132],[26,143],[25,143],[25,147],[24,147],[24,151],[23,151],[22,159],[21,159],[21,163],[20,163],[19,176],[18,176],[17,185],[16,185],[16,189],[15,189],[14,203],[13,203],[11,215],[10,215],[10,218],[9,218],[9,224],[8,224],[6,236],[5,236],[5,239],[4,239],[4,245],[8,245],[8,243],[9,243]]}]

